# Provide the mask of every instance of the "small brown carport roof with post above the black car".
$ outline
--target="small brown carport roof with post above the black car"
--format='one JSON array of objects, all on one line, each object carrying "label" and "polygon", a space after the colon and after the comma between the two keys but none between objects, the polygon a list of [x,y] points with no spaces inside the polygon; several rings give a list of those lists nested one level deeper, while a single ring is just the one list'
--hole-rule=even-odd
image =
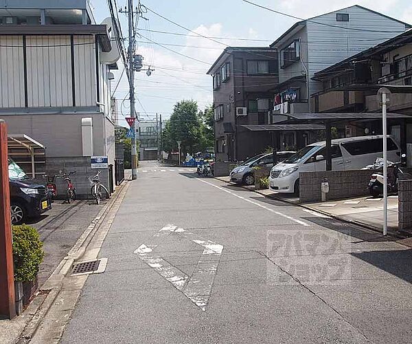
[{"label": "small brown carport roof with post above the black car", "polygon": [[36,164],[45,163],[45,161],[36,161],[35,155],[45,155],[45,149],[43,144],[23,133],[8,135],[8,155],[19,158],[16,159],[18,164],[30,164],[33,178],[36,178]]}]

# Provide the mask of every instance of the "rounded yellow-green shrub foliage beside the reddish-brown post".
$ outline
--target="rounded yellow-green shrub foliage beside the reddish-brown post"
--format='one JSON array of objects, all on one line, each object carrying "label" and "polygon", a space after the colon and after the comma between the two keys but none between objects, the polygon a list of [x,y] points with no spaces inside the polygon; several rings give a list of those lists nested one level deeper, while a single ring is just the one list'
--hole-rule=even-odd
[{"label": "rounded yellow-green shrub foliage beside the reddish-brown post", "polygon": [[14,281],[34,281],[44,256],[36,228],[25,224],[13,226]]}]

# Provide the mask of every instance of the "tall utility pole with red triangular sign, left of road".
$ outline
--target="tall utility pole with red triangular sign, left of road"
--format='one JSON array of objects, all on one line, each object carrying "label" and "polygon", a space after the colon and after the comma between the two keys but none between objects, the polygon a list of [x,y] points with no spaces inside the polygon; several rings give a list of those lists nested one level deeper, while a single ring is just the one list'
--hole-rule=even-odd
[{"label": "tall utility pole with red triangular sign, left of road", "polygon": [[[133,0],[128,0],[128,62],[129,62],[129,94],[130,94],[130,117],[136,118],[135,113],[135,69],[133,60],[135,58],[135,36],[133,36]],[[136,147],[136,120],[132,125],[132,180],[137,179],[137,147]]]}]

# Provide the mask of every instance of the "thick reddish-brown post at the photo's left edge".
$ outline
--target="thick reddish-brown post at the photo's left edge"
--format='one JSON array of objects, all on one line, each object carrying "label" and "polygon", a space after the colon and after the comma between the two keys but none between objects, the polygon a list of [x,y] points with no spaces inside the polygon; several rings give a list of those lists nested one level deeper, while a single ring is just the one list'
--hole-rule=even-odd
[{"label": "thick reddish-brown post at the photo's left edge", "polygon": [[0,318],[16,316],[7,127],[0,120]]}]

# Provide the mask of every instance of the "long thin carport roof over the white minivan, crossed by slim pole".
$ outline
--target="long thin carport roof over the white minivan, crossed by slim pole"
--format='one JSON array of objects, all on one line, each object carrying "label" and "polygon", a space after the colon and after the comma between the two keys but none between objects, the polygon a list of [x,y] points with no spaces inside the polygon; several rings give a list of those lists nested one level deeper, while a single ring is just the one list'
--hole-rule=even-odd
[{"label": "long thin carport roof over the white minivan, crossed by slim pole", "polygon": [[[325,120],[375,120],[382,118],[380,112],[344,112],[344,113],[325,113],[325,114],[287,114],[291,119],[295,120],[312,120],[323,122]],[[404,114],[394,114],[389,112],[387,118],[412,118],[412,116]]]}]

